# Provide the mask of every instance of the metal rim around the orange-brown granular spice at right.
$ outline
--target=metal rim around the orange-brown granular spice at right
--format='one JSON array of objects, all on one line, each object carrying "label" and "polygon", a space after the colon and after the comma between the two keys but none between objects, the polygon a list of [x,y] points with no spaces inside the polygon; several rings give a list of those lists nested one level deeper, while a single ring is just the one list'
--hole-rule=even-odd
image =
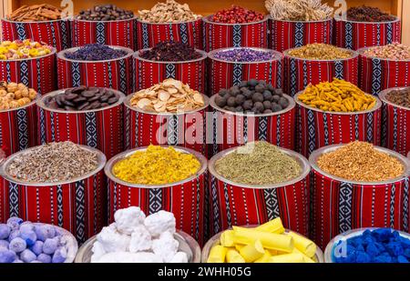
[{"label": "metal rim around the orange-brown granular spice at right", "polygon": [[402,180],[404,180],[406,177],[408,177],[409,172],[410,172],[410,164],[409,164],[409,160],[405,157],[400,155],[399,153],[381,147],[381,146],[374,146],[374,148],[376,150],[378,150],[379,152],[383,152],[388,154],[389,156],[394,156],[397,160],[399,160],[402,165],[405,168],[405,172],[403,173],[402,176],[397,176],[395,178],[391,178],[388,180],[384,180],[384,181],[380,181],[380,182],[359,182],[359,181],[354,181],[354,180],[349,180],[346,178],[342,178],[342,177],[338,177],[338,176],[333,176],[329,173],[324,172],[318,165],[317,165],[317,159],[322,156],[325,153],[329,153],[329,152],[333,152],[334,150],[341,148],[345,146],[345,144],[339,144],[339,145],[332,145],[332,146],[323,146],[322,148],[319,148],[315,151],[313,151],[313,153],[311,154],[311,156],[309,157],[309,163],[312,166],[312,169],[318,173],[320,173],[323,176],[326,176],[332,180],[341,182],[341,183],[346,183],[346,184],[351,184],[351,185],[357,185],[357,186],[382,186],[382,185],[391,185],[391,184],[395,184],[397,182],[400,182]]}]

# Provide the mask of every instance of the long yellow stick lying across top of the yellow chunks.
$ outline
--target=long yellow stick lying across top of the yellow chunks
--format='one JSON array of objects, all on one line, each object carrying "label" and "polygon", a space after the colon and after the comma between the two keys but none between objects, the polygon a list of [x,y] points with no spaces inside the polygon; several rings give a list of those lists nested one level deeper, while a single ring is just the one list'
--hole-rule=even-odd
[{"label": "long yellow stick lying across top of the yellow chunks", "polygon": [[292,253],[293,251],[292,236],[278,235],[238,226],[233,226],[233,231],[235,243],[250,245],[256,240],[261,240],[264,248],[286,253]]}]

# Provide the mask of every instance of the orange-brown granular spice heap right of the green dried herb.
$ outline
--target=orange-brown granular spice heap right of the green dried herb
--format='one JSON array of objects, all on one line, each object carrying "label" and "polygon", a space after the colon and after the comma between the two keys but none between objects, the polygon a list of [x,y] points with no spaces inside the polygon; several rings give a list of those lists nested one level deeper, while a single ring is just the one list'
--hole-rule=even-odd
[{"label": "orange-brown granular spice heap right of the green dried herb", "polygon": [[405,166],[396,157],[359,141],[323,154],[317,165],[325,173],[358,182],[382,182],[405,173]]}]

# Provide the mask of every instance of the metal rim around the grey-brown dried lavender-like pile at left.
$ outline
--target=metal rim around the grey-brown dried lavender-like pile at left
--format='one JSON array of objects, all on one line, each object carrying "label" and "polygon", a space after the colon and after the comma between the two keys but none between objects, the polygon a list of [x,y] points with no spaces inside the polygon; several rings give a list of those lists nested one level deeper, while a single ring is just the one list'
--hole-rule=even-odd
[{"label": "metal rim around the grey-brown dried lavender-like pile at left", "polygon": [[19,186],[38,186],[38,187],[44,186],[44,187],[49,187],[49,186],[64,186],[64,185],[74,184],[74,183],[77,183],[78,181],[84,180],[84,179],[86,179],[90,176],[97,175],[100,171],[102,171],[102,169],[104,168],[104,166],[107,163],[107,157],[100,150],[98,150],[97,148],[90,147],[90,146],[83,146],[83,145],[77,145],[77,146],[81,146],[83,149],[85,149],[87,151],[90,151],[90,152],[96,152],[97,157],[98,157],[97,167],[93,171],[91,171],[91,172],[89,172],[89,173],[87,173],[83,176],[78,176],[78,177],[70,179],[70,180],[58,181],[58,182],[53,182],[53,183],[49,183],[49,182],[38,183],[38,182],[26,182],[26,181],[18,180],[16,178],[14,178],[13,176],[10,176],[6,172],[6,167],[9,166],[9,164],[12,162],[12,160],[16,156],[23,155],[26,152],[29,152],[29,151],[31,151],[31,150],[35,149],[36,147],[39,147],[39,146],[30,147],[30,148],[27,148],[26,150],[22,150],[22,151],[16,152],[15,154],[13,154],[11,156],[8,156],[5,159],[5,162],[3,162],[2,165],[0,165],[0,176],[3,176],[5,178],[5,180],[7,180],[11,183],[14,183],[16,185],[19,185]]}]

